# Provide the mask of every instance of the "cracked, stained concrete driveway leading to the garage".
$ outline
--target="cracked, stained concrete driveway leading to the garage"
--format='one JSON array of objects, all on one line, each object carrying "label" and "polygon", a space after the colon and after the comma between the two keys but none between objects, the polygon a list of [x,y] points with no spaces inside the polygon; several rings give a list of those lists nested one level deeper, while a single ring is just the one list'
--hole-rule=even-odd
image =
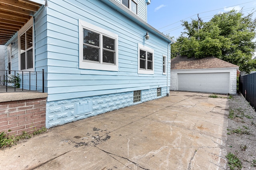
[{"label": "cracked, stained concrete driveway leading to the garage", "polygon": [[170,92],[168,97],[52,128],[0,150],[0,167],[224,170],[228,99],[208,96]]}]

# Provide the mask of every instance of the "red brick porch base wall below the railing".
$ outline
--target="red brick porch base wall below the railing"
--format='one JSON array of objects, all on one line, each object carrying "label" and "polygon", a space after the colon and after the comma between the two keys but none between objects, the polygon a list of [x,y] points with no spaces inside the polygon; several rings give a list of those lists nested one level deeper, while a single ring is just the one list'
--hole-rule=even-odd
[{"label": "red brick porch base wall below the railing", "polygon": [[0,132],[20,135],[45,127],[46,98],[0,102]]}]

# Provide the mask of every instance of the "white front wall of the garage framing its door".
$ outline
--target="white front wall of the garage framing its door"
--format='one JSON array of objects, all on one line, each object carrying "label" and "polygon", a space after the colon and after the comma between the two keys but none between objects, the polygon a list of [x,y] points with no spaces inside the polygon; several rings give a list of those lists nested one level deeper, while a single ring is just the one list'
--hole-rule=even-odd
[{"label": "white front wall of the garage framing its door", "polygon": [[170,74],[170,90],[176,91],[178,89],[178,74],[186,73],[229,73],[229,94],[236,95],[236,69],[237,68],[224,68],[224,69],[197,69],[197,70],[171,70]]}]

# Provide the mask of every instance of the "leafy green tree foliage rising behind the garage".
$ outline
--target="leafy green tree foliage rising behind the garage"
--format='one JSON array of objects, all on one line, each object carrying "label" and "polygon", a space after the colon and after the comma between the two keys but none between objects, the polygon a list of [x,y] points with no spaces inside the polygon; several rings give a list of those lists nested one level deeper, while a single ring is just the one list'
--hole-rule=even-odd
[{"label": "leafy green tree foliage rising behind the garage", "polygon": [[256,68],[256,61],[252,60],[256,49],[256,20],[252,15],[244,16],[235,10],[216,14],[210,21],[200,23],[202,29],[199,31],[197,20],[182,21],[185,32],[172,45],[172,58],[177,55],[214,56],[238,65],[241,71],[250,72]]}]

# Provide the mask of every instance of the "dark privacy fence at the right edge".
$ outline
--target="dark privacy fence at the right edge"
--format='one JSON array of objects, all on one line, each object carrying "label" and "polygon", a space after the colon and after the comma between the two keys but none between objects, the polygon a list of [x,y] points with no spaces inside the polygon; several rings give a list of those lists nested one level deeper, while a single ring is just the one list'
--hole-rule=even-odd
[{"label": "dark privacy fence at the right edge", "polygon": [[239,91],[256,111],[256,73],[239,77]]}]

